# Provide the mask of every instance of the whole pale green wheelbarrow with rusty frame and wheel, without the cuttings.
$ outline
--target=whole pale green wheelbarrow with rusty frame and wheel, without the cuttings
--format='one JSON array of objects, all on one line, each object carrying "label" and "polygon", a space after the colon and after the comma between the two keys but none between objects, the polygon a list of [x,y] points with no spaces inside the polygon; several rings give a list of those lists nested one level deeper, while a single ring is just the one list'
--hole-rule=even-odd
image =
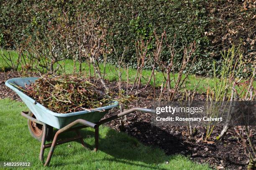
[{"label": "whole pale green wheelbarrow with rusty frame and wheel, without the cuttings", "polygon": [[[151,112],[151,113],[155,112],[155,110],[152,110],[152,109],[135,107],[130,110],[125,110],[124,112],[121,112],[117,115],[101,120],[102,117],[104,117],[104,115],[107,114],[110,109],[114,107],[118,107],[118,102],[113,102],[111,105],[95,108],[92,111],[83,110],[79,112],[71,112],[71,113],[65,113],[65,114],[56,113],[47,109],[46,107],[44,107],[40,103],[33,100],[31,97],[23,93],[20,89],[15,87],[15,86],[20,86],[25,88],[25,84],[30,85],[31,83],[35,82],[37,79],[38,77],[13,78],[13,79],[7,80],[5,82],[5,85],[7,85],[13,91],[15,91],[23,100],[23,102],[27,105],[28,109],[30,110],[28,112],[25,112],[25,111],[21,112],[21,115],[28,119],[28,130],[31,133],[32,137],[41,141],[39,160],[44,162],[44,150],[46,148],[50,148],[50,151],[48,153],[44,166],[49,165],[56,145],[61,145],[64,143],[78,140],[83,147],[86,147],[83,140],[84,137],[82,137],[81,134],[79,133],[79,130],[82,128],[90,127],[95,129],[94,151],[97,151],[99,148],[99,126],[100,125],[135,111]],[[52,139],[51,136],[53,133],[53,128],[58,129],[58,131],[55,133],[52,143],[46,144],[46,140]],[[58,139],[59,134],[67,131],[75,131],[76,136],[72,138],[64,139],[64,140]]]}]

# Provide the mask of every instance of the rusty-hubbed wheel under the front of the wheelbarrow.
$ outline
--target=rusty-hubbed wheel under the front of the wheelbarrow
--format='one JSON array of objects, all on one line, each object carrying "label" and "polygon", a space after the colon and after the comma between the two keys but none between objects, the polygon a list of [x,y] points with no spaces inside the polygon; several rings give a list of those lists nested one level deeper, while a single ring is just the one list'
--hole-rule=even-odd
[{"label": "rusty-hubbed wheel under the front of the wheelbarrow", "polygon": [[[28,112],[28,115],[36,119],[36,116],[31,111]],[[39,141],[42,140],[43,131],[44,131],[43,125],[40,125],[28,119],[28,130],[33,138]],[[52,135],[53,135],[53,127],[46,125],[46,140],[47,141],[51,140]]]}]

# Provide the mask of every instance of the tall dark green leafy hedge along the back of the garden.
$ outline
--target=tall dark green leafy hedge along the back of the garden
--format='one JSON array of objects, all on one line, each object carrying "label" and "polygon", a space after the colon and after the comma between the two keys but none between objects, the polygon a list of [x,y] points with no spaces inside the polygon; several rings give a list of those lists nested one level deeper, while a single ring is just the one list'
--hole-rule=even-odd
[{"label": "tall dark green leafy hedge along the back of the garden", "polygon": [[[137,39],[140,37],[144,40],[151,39],[148,50],[149,52],[154,50],[154,30],[158,35],[165,30],[168,43],[173,41],[175,34],[177,50],[190,42],[197,43],[193,56],[197,57],[196,67],[192,73],[198,75],[212,75],[212,61],[216,60],[217,64],[220,63],[220,50],[227,49],[232,44],[241,45],[243,55],[248,62],[244,73],[251,72],[255,61],[253,59],[255,19],[254,22],[250,19],[253,17],[252,14],[255,14],[255,7],[251,7],[247,1],[234,0],[231,3],[225,0],[8,0],[0,2],[0,45],[5,48],[15,48],[15,45],[26,41],[28,37],[33,38],[35,32],[47,31],[50,22],[54,24],[63,18],[68,18],[69,24],[75,24],[77,15],[87,13],[93,17],[100,17],[100,24],[108,30],[106,42],[114,46],[119,55],[122,54],[123,48],[127,47],[125,62],[131,67],[136,67]],[[228,10],[230,5],[232,11]],[[246,10],[245,5],[247,5]],[[236,19],[239,16],[246,20]],[[229,23],[233,20],[243,24],[236,23],[230,26]],[[232,31],[236,33],[232,34]],[[231,33],[227,35],[229,32]],[[164,47],[162,56],[168,61],[167,47]],[[175,56],[175,63],[179,63],[181,58],[182,51]],[[114,54],[108,56],[108,62],[115,63]],[[145,67],[150,69],[151,63],[148,62]]]}]

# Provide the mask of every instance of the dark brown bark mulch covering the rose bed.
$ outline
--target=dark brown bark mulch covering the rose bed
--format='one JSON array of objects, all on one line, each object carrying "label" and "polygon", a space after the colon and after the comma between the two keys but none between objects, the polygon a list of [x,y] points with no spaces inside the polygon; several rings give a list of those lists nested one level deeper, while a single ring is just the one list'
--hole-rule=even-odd
[{"label": "dark brown bark mulch covering the rose bed", "polygon": [[[0,73],[0,98],[9,97],[13,100],[20,100],[15,92],[5,87],[4,82],[12,77],[21,77],[18,73]],[[117,90],[116,82],[107,82],[109,87]],[[130,85],[129,85],[130,86]],[[123,89],[126,89],[124,84]],[[156,94],[160,94],[160,89],[156,89]],[[179,96],[177,96],[179,97]],[[196,94],[195,100],[205,100],[205,94]],[[153,90],[148,87],[144,92],[138,95],[137,100],[128,105],[132,107],[151,107],[153,101]],[[110,117],[119,112],[113,109],[105,117]],[[107,126],[120,131],[120,121],[113,120],[106,123]],[[189,155],[190,159],[199,163],[208,163],[212,168],[225,168],[231,170],[246,169],[248,164],[248,155],[245,154],[244,148],[239,143],[236,132],[230,129],[222,141],[216,141],[215,138],[221,132],[222,127],[215,127],[210,143],[200,140],[202,134],[206,133],[205,127],[197,127],[197,134],[191,140],[188,138],[187,128],[182,126],[161,126],[151,125],[151,115],[149,113],[134,112],[127,116],[124,123],[124,131],[129,135],[137,138],[141,143],[164,150],[168,155],[182,154]],[[253,134],[256,133],[255,128]],[[253,143],[256,143],[256,137],[252,137]]]}]

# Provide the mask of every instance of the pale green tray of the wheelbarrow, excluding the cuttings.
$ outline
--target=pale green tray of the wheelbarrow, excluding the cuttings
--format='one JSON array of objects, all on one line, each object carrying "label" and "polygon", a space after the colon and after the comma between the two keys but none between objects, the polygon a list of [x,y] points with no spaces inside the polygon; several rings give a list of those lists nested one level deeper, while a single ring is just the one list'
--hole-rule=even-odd
[{"label": "pale green tray of the wheelbarrow, excluding the cuttings", "polygon": [[[36,119],[46,123],[47,125],[50,125],[54,128],[61,129],[64,126],[70,124],[71,122],[74,122],[77,119],[84,119],[89,122],[99,122],[102,117],[110,109],[113,107],[118,107],[118,102],[113,102],[112,105],[108,105],[105,107],[99,107],[95,108],[95,110],[88,111],[88,110],[83,110],[79,112],[72,112],[72,113],[56,113],[53,112],[40,103],[36,102],[33,100],[31,97],[23,93],[21,90],[16,88],[13,85],[18,85],[23,88],[25,88],[25,83],[26,85],[30,85],[31,83],[35,82],[38,79],[38,77],[22,77],[22,78],[12,78],[10,80],[7,80],[5,82],[5,85],[10,87],[13,91],[15,91],[20,98],[23,100],[23,102],[27,105],[29,110],[33,112],[33,115],[35,115]],[[13,84],[13,85],[12,85]]]}]

